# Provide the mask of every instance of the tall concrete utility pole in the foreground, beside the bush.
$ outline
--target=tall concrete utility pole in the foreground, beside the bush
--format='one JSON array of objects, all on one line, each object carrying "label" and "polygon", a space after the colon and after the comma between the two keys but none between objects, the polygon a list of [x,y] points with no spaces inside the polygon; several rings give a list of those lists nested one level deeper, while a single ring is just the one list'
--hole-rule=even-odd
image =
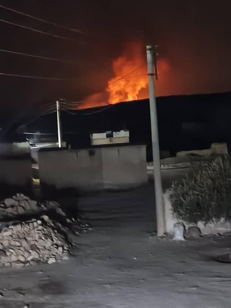
[{"label": "tall concrete utility pole in the foreground, beside the bush", "polygon": [[156,97],[154,88],[153,52],[154,46],[147,45],[147,75],[152,130],[153,177],[155,181],[157,236],[164,234],[164,213],[161,183],[160,149],[157,126]]}]

